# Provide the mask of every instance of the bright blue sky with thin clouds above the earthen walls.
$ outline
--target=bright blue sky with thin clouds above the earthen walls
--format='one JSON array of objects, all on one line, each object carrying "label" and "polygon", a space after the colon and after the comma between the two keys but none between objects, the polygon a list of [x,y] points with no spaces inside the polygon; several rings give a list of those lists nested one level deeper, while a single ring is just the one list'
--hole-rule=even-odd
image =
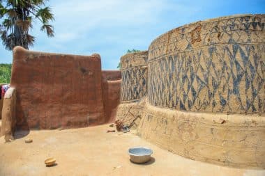
[{"label": "bright blue sky with thin clouds above the earthen walls", "polygon": [[[265,0],[50,0],[54,38],[34,22],[31,50],[66,54],[98,53],[105,70],[116,69],[128,49],[148,49],[171,29],[199,20],[236,14],[265,13]],[[0,63],[12,63],[12,52],[0,45]]]}]

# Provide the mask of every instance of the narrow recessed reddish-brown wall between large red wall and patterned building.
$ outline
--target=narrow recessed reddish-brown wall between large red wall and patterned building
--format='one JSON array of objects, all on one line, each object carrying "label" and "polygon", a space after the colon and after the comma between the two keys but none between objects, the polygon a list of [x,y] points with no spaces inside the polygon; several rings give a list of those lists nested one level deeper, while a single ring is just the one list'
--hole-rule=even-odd
[{"label": "narrow recessed reddish-brown wall between large red wall and patterned building", "polygon": [[121,71],[103,70],[105,122],[114,122],[121,95]]}]

